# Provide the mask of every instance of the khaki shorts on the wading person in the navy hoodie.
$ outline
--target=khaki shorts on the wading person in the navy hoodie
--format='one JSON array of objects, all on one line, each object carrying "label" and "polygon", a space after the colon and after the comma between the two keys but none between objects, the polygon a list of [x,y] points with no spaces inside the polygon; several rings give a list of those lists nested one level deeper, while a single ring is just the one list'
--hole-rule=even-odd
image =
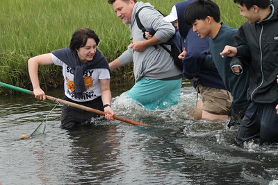
[{"label": "khaki shorts on the wading person in the navy hoodie", "polygon": [[231,96],[229,91],[213,87],[202,87],[202,85],[197,85],[196,90],[202,96],[202,109],[204,111],[211,114],[231,115],[233,96]]}]

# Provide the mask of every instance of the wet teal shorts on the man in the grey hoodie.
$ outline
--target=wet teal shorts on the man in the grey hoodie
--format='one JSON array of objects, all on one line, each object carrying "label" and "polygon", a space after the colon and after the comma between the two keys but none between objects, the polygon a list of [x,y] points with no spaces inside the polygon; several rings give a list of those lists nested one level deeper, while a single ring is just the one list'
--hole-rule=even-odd
[{"label": "wet teal shorts on the man in the grey hoodie", "polygon": [[147,109],[166,109],[177,105],[181,99],[181,79],[178,80],[150,80],[141,78],[127,91],[133,100],[137,100]]}]

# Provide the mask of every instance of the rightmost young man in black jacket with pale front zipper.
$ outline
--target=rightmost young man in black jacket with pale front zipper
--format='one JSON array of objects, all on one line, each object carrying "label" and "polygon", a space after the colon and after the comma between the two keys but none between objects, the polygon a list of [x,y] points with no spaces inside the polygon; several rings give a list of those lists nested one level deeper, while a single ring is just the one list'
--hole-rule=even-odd
[{"label": "rightmost young man in black jacket with pale front zipper", "polygon": [[[278,15],[277,1],[234,0],[240,15],[247,22],[236,35],[236,47],[225,46],[221,55],[245,55],[252,58],[252,73],[247,98],[252,103],[247,108],[240,125],[236,143],[259,138],[263,143],[278,143]],[[275,75],[274,75],[275,74]]]}]

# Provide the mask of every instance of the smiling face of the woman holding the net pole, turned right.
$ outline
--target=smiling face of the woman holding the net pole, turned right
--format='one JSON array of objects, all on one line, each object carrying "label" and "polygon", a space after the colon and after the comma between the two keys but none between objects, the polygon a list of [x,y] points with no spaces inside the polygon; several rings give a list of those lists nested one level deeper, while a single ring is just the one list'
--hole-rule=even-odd
[{"label": "smiling face of the woman holding the net pole, turned right", "polygon": [[77,55],[81,62],[88,62],[94,58],[96,51],[97,43],[95,42],[95,39],[88,38],[85,46],[77,50]]}]

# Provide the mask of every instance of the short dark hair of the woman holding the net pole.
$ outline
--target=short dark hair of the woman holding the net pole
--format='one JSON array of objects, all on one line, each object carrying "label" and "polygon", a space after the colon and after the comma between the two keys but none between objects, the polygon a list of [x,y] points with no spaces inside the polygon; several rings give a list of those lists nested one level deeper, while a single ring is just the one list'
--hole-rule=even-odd
[{"label": "short dark hair of the woman holding the net pole", "polygon": [[85,46],[88,38],[95,39],[97,45],[99,44],[99,37],[95,31],[91,30],[90,28],[78,28],[75,30],[74,34],[72,35],[72,39],[70,40],[70,49],[72,52],[76,53],[77,49]]}]

